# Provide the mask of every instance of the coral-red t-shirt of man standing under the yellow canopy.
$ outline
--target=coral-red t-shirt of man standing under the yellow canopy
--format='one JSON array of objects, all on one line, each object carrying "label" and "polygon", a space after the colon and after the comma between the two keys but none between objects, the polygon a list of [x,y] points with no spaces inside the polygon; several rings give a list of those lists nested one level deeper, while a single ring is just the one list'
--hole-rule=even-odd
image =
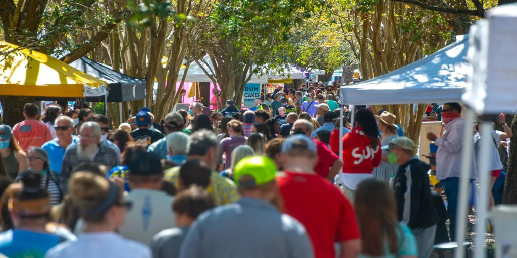
[{"label": "coral-red t-shirt of man standing under the yellow canopy", "polygon": [[52,140],[49,127],[38,120],[25,120],[12,127],[12,136],[18,141],[23,151],[29,147],[41,147],[43,143]]}]

